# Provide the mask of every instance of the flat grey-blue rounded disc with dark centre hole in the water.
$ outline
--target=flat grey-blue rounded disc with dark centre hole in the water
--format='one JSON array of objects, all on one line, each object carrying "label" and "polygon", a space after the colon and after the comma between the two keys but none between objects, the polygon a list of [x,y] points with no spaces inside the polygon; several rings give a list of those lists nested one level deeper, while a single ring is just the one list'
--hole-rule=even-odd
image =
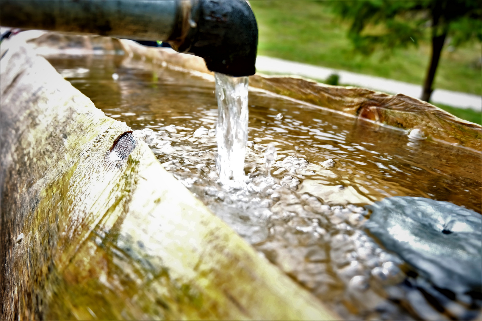
[{"label": "flat grey-blue rounded disc with dark centre hole in the water", "polygon": [[481,291],[482,216],[423,197],[394,196],[373,205],[366,227],[436,286]]}]

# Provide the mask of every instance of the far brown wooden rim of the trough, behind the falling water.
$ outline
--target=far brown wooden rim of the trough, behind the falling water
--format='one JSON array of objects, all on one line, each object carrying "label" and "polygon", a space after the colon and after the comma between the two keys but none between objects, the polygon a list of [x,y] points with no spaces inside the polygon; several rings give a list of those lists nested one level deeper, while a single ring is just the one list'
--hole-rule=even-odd
[{"label": "far brown wooden rim of the trough, behind the falling water", "polygon": [[[140,59],[213,74],[200,57],[169,49],[146,47],[131,40],[118,41],[131,58],[131,64],[132,60]],[[457,118],[432,104],[403,94],[388,95],[364,88],[325,85],[297,76],[255,74],[250,77],[249,85],[380,124],[404,130],[420,128],[429,139],[481,152],[480,125]]]}]

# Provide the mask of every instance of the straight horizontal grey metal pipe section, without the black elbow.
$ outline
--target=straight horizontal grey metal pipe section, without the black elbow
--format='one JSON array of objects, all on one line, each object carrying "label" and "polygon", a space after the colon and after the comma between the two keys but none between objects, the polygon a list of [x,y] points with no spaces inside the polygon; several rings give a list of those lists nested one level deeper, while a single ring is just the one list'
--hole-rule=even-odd
[{"label": "straight horizontal grey metal pipe section, without the black elbow", "polygon": [[[181,2],[181,1],[180,1]],[[2,0],[3,26],[166,40],[179,2],[135,0]]]}]

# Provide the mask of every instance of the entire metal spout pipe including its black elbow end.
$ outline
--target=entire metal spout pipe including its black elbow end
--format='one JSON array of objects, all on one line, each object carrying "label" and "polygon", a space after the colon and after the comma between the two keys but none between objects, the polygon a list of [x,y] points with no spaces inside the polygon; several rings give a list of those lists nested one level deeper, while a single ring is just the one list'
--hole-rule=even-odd
[{"label": "entire metal spout pipe including its black elbow end", "polygon": [[258,29],[244,0],[1,0],[2,26],[162,40],[229,76],[255,72]]}]

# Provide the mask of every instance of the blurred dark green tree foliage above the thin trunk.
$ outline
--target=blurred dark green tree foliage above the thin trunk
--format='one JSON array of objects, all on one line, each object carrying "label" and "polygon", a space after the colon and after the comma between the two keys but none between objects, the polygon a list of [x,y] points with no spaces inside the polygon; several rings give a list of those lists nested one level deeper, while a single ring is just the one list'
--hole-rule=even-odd
[{"label": "blurred dark green tree foliage above the thin trunk", "polygon": [[482,41],[480,0],[335,0],[329,4],[349,21],[348,38],[363,54],[416,46],[427,38],[427,29],[432,37],[446,32],[455,47],[472,39]]}]

